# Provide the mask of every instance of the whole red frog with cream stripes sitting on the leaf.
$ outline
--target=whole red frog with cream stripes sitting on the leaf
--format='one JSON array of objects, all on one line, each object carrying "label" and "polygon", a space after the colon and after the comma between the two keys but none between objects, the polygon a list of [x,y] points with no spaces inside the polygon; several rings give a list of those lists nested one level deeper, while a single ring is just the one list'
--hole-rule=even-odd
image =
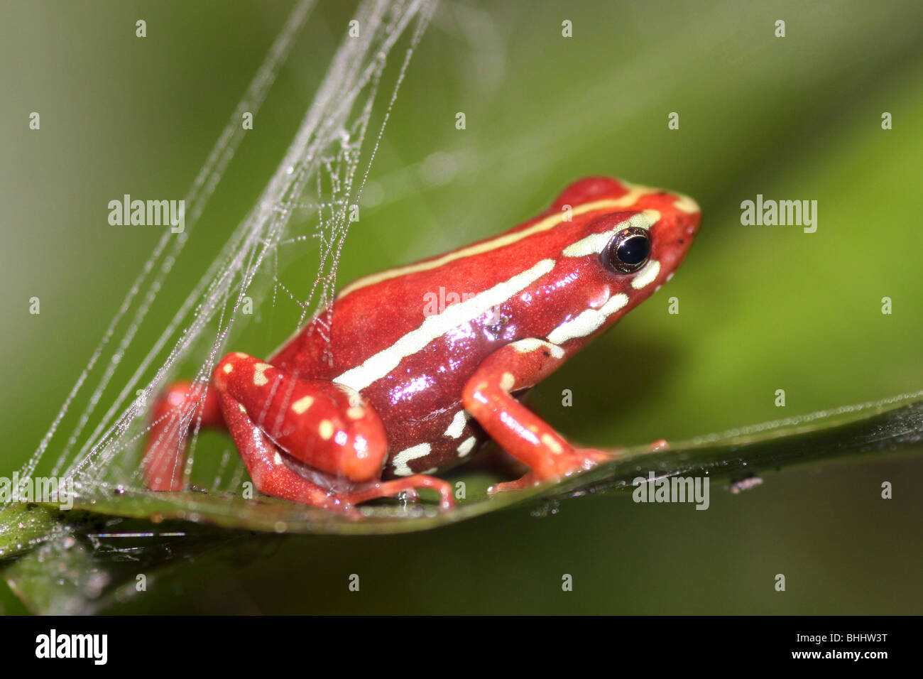
[{"label": "whole red frog with cream stripes sitting on the leaf", "polygon": [[[451,506],[432,475],[488,438],[530,468],[491,492],[593,467],[610,455],[568,443],[518,397],[668,281],[700,219],[681,194],[589,177],[499,236],[355,281],[268,360],[228,354],[204,394],[162,394],[146,483],[182,490],[197,423],[230,430],[258,491],[353,514],[420,488]],[[433,309],[436,291],[458,301]]]}]

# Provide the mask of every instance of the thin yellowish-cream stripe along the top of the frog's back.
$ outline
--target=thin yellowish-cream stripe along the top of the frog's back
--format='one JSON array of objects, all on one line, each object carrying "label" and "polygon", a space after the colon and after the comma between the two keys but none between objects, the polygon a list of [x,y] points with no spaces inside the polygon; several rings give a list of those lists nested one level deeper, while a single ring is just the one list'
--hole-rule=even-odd
[{"label": "thin yellowish-cream stripe along the top of the frog's back", "polygon": [[[587,212],[593,212],[596,210],[627,208],[631,205],[634,205],[638,199],[641,198],[641,196],[648,193],[656,193],[660,190],[659,188],[642,187],[637,184],[629,184],[628,182],[622,182],[622,184],[629,189],[629,192],[624,196],[619,198],[595,200],[593,202],[583,203],[582,205],[578,205],[577,207],[573,208],[570,211],[570,214],[576,217],[581,214],[586,214]],[[448,264],[450,261],[461,260],[463,257],[473,257],[474,255],[480,255],[493,249],[503,248],[510,245],[511,243],[522,240],[523,238],[534,236],[535,234],[539,234],[543,231],[547,231],[548,229],[552,229],[557,226],[557,224],[560,224],[563,220],[564,212],[552,214],[545,217],[545,219],[543,219],[541,222],[533,224],[527,229],[522,229],[521,231],[517,231],[512,234],[497,236],[496,238],[491,238],[490,240],[486,240],[483,243],[469,246],[467,248],[453,250],[452,252],[449,252],[448,254],[445,254],[436,260],[421,261],[416,264],[408,264],[407,266],[398,267],[396,269],[388,269],[387,271],[374,273],[370,276],[366,276],[365,278],[360,278],[358,281],[355,281],[351,285],[347,285],[340,291],[340,294],[337,297],[346,297],[354,290],[358,290],[360,287],[366,287],[366,285],[375,285],[376,283],[381,283],[381,281],[387,281],[390,278],[397,278],[398,276],[402,276],[405,273],[418,273],[422,271],[429,271],[430,269],[437,269],[440,266]]]}]

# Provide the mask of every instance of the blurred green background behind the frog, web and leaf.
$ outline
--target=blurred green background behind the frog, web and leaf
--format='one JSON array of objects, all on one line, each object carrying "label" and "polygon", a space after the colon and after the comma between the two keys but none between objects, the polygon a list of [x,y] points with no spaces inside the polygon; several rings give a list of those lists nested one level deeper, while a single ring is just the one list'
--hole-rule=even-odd
[{"label": "blurred green background behind the frog, web and leaf", "polygon": [[[291,7],[0,6],[6,474],[41,440],[161,234],[109,226],[107,202],[186,193]],[[353,11],[318,3],[140,346],[258,197]],[[570,438],[686,438],[915,391],[921,33],[923,6],[909,0],[443,3],[392,111],[340,280],[508,228],[581,176],[624,176],[693,196],[701,232],[664,291],[536,390],[533,406]],[[817,233],[741,225],[741,200],[758,193],[818,200]],[[678,315],[666,312],[671,296]],[[234,348],[266,354],[294,318],[291,305],[264,305]],[[202,445],[220,455],[230,443]],[[786,469],[741,494],[715,484],[706,512],[617,494],[426,534],[271,539],[244,562],[217,552],[175,569],[115,612],[918,613],[921,473],[918,455],[876,455]],[[347,590],[352,573],[360,592]],[[778,573],[785,593],[773,590]],[[23,611],[6,588],[0,606]]]}]

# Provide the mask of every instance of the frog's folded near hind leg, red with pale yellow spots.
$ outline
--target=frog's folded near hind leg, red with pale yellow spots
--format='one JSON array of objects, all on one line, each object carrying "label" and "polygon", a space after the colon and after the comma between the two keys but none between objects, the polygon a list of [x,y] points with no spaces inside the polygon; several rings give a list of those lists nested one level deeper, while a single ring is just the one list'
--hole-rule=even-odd
[{"label": "frog's folded near hind leg, red with pale yellow spots", "polygon": [[451,485],[441,479],[380,480],[387,434],[375,409],[353,390],[304,380],[241,353],[222,359],[212,383],[259,491],[349,511],[353,504],[429,488],[438,491],[443,507],[453,504]]}]

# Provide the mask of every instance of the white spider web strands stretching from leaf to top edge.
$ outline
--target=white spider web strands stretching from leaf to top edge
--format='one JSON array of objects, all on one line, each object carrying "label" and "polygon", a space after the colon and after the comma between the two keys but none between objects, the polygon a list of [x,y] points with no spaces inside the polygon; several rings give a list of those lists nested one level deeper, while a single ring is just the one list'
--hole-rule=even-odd
[{"label": "white spider web strands stretching from leaf to top edge", "polygon": [[[19,469],[21,483],[27,482],[42,459],[60,446],[51,476],[63,475],[72,480],[81,496],[114,489],[140,490],[143,482],[138,463],[152,425],[149,413],[154,397],[174,380],[184,361],[188,363],[190,357],[198,356],[197,350],[204,348],[207,358],[199,362],[193,380],[202,388],[204,399],[211,370],[224,355],[231,333],[248,319],[246,305],[258,305],[270,289],[273,303],[281,297],[297,305],[299,327],[316,317],[319,332],[329,338],[326,309],[334,297],[351,213],[359,204],[406,69],[432,18],[434,0],[364,0],[358,6],[353,21],[343,27],[342,42],[294,139],[256,204],[144,358],[132,366],[135,370],[120,384],[118,393],[106,397],[107,391],[117,388],[113,387],[114,374],[126,350],[244,139],[242,115],[249,112],[256,116],[315,5],[316,0],[301,0],[287,18],[186,194],[185,230],[179,234],[166,231],[156,245],[42,442]],[[351,35],[355,29],[358,34]],[[391,53],[405,34],[409,34],[407,46],[398,62],[390,96],[386,97],[382,94],[382,80]],[[371,129],[379,100],[384,102],[378,106],[381,123]],[[318,245],[314,282],[308,289],[285,285],[279,275],[280,252],[283,247],[297,247],[307,241]],[[164,351],[168,351],[165,358]],[[91,377],[98,378],[98,382],[76,424],[73,429],[62,427]],[[186,468],[179,470],[186,480],[196,458],[200,424],[197,409],[198,404],[190,404],[182,413],[166,416],[174,419],[170,427],[192,427]],[[95,422],[92,429],[90,422]],[[222,473],[230,457],[231,452],[226,451],[213,479],[213,490],[222,488]],[[243,471],[238,464],[234,476],[223,487],[239,488]]]}]

